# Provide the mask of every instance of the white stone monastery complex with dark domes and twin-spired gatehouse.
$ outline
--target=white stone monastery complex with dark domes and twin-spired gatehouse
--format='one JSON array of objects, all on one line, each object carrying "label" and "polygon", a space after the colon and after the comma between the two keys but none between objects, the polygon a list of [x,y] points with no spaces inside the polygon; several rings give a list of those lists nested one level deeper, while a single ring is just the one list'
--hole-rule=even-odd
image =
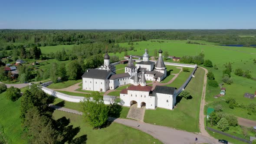
[{"label": "white stone monastery complex with dark domes and twin-spired gatehouse", "polygon": [[143,55],[143,61],[134,65],[134,61],[128,59],[125,73],[116,74],[115,66],[110,64],[110,56],[106,52],[104,64],[98,69],[88,69],[82,75],[82,89],[90,91],[106,92],[121,85],[131,84],[120,92],[120,98],[125,106],[138,104],[138,108],[145,106],[147,109],[156,107],[173,109],[176,103],[175,88],[156,86],[154,90],[146,85],[146,80],[161,82],[167,75],[167,70],[158,51],[159,58],[156,63],[149,61],[147,50]]}]

